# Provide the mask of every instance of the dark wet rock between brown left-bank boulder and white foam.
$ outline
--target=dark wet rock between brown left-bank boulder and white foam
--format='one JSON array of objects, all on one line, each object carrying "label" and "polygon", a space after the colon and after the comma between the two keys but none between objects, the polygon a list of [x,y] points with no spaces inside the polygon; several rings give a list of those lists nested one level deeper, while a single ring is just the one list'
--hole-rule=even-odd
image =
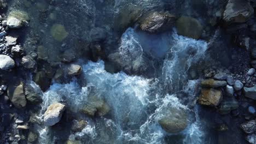
[{"label": "dark wet rock between brown left-bank boulder and white foam", "polygon": [[43,101],[43,93],[30,84],[25,85],[25,95],[27,101],[33,105],[38,105]]}]

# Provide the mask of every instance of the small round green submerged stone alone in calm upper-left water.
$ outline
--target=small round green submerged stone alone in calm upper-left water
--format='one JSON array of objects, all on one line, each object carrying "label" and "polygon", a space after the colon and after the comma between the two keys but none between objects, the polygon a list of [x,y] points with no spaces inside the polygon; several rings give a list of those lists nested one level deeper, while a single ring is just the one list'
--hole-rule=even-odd
[{"label": "small round green submerged stone alone in calm upper-left water", "polygon": [[68,36],[68,32],[63,25],[54,24],[51,27],[51,36],[57,41],[62,41]]}]

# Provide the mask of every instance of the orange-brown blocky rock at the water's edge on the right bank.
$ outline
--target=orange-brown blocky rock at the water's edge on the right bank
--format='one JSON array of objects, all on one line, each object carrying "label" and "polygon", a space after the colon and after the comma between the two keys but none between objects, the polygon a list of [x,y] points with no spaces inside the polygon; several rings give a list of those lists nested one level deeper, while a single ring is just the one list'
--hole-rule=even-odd
[{"label": "orange-brown blocky rock at the water's edge on the right bank", "polygon": [[199,104],[207,106],[218,106],[221,101],[222,91],[213,88],[203,88],[198,99]]}]

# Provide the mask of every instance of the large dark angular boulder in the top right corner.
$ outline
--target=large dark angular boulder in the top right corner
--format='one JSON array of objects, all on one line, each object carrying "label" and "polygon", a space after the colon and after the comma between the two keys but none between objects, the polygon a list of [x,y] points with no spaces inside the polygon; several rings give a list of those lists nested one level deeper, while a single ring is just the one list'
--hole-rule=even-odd
[{"label": "large dark angular boulder in the top right corner", "polygon": [[223,13],[226,22],[246,22],[254,13],[248,1],[229,0]]}]

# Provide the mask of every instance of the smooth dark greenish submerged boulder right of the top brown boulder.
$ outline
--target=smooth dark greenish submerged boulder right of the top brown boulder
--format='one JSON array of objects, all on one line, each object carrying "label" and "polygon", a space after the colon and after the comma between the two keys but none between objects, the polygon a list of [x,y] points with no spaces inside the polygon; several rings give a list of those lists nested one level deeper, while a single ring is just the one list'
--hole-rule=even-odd
[{"label": "smooth dark greenish submerged boulder right of the top brown boulder", "polygon": [[176,21],[176,27],[179,35],[199,39],[201,37],[203,27],[199,21],[193,17],[182,16]]}]

